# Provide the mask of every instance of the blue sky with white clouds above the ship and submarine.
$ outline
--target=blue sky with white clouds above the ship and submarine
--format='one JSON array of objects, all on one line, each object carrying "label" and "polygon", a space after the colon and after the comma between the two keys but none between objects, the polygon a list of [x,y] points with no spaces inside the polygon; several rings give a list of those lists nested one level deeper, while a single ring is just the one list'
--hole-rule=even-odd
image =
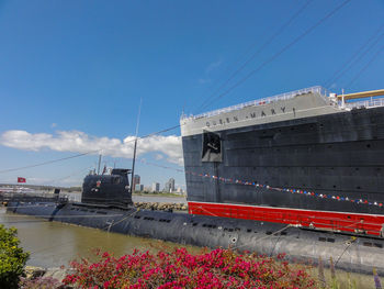
[{"label": "blue sky with white clouds above the ship and submarine", "polygon": [[[384,32],[383,1],[350,1],[241,86],[202,109],[240,66],[238,60],[260,48],[306,2],[231,84],[343,1],[0,0],[0,171],[100,147],[105,148],[108,166],[116,162],[131,167],[131,145],[124,146],[123,140],[135,134],[140,98],[139,135],[146,135],[177,125],[183,110],[200,113],[325,85],[380,27]],[[331,90],[383,88],[384,38],[376,35],[375,45],[331,81]],[[142,141],[139,158],[180,168],[179,135],[173,130]],[[0,182],[23,176],[30,184],[80,185],[97,160],[97,155],[87,155],[0,173]],[[145,185],[163,185],[170,177],[184,184],[183,174],[142,162],[136,171]]]}]

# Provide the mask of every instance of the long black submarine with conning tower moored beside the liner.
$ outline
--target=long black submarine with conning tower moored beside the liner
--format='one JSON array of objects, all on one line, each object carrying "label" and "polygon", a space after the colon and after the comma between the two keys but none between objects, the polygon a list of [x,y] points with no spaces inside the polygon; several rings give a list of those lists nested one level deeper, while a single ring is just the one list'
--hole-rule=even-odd
[{"label": "long black submarine with conning tower moored beside the liner", "polygon": [[201,247],[224,247],[260,255],[285,254],[290,262],[316,265],[330,257],[335,267],[347,271],[384,274],[384,238],[364,232],[340,232],[185,212],[135,208],[131,169],[94,171],[86,176],[81,202],[10,201],[9,213],[35,215],[47,221],[94,227],[106,232],[169,241]]}]

